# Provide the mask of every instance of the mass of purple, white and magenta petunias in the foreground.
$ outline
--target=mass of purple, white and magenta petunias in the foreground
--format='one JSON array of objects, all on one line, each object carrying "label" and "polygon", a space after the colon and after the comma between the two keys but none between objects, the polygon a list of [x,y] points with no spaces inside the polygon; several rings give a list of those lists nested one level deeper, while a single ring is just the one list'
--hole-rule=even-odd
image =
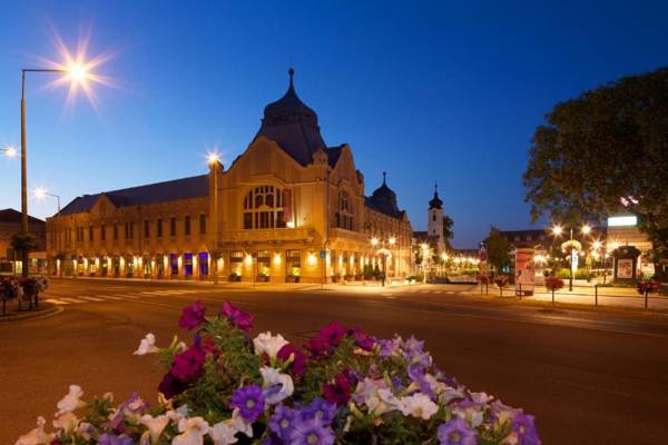
[{"label": "mass of purple, white and magenta petunias in the foreground", "polygon": [[17,445],[540,444],[532,416],[445,377],[414,337],[334,322],[299,348],[268,332],[250,338],[252,320],[229,303],[214,316],[195,303],[179,320],[193,344],[158,347],[148,334],[135,352],[165,366],[156,405],[85,403],[72,385],[56,432],[40,417]]}]

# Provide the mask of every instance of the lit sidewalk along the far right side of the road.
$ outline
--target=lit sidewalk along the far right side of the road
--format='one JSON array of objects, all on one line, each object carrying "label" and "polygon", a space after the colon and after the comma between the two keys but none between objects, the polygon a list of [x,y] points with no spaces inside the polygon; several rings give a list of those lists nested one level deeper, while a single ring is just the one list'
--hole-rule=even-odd
[{"label": "lit sidewalk along the far right side of the road", "polygon": [[[469,294],[499,297],[499,288],[490,285],[489,294],[485,295],[481,294],[480,286],[477,286],[474,289],[471,289]],[[503,289],[503,298],[520,299],[520,296],[515,294],[515,288],[513,286],[509,286]],[[532,296],[522,295],[521,299],[551,303],[552,293],[546,290],[543,286],[536,286]],[[563,289],[554,293],[554,303],[586,305],[591,307],[598,305],[602,307],[645,309],[645,296],[638,294],[635,288],[629,287],[598,287],[597,289],[595,286],[582,286],[573,287],[573,290],[570,291],[568,290],[567,285]],[[647,307],[648,310],[668,312],[668,296],[650,294],[647,298]]]}]

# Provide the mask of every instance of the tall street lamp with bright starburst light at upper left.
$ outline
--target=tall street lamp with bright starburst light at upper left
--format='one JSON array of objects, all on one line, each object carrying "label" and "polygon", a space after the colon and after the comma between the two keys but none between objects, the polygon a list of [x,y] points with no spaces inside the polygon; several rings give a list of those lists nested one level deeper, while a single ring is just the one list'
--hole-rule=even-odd
[{"label": "tall street lamp with bright starburst light at upper left", "polygon": [[[21,70],[21,235],[27,237],[28,229],[28,162],[26,156],[26,73],[60,73],[66,75],[72,81],[72,85],[85,82],[88,78],[88,67],[81,63],[71,63],[62,68],[26,68]],[[28,251],[26,248],[21,251],[21,275],[28,276]]]}]

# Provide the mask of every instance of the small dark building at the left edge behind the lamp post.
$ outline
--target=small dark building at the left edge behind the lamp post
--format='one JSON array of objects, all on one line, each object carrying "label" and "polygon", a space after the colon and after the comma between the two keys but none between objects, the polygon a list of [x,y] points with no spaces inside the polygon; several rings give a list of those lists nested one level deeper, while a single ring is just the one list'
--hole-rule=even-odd
[{"label": "small dark building at the left edge behind the lamp post", "polygon": [[[37,248],[28,254],[31,274],[45,271],[47,249],[47,224],[28,216],[28,230],[35,236]],[[21,231],[21,212],[14,209],[0,210],[0,273],[21,274],[21,255],[11,247],[11,238]]]}]

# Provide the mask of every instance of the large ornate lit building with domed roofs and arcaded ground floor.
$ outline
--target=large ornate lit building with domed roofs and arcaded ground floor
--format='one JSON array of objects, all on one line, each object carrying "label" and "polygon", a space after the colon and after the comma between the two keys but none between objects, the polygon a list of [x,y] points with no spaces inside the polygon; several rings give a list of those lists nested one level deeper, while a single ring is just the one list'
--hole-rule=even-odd
[{"label": "large ornate lit building with domed roofs and arcaded ground floor", "polygon": [[[229,168],[85,195],[49,218],[51,273],[321,283],[380,265],[409,275],[412,230],[396,195],[385,179],[364,195],[351,148],[327,147],[293,75]],[[379,237],[392,240],[385,250]]]}]

